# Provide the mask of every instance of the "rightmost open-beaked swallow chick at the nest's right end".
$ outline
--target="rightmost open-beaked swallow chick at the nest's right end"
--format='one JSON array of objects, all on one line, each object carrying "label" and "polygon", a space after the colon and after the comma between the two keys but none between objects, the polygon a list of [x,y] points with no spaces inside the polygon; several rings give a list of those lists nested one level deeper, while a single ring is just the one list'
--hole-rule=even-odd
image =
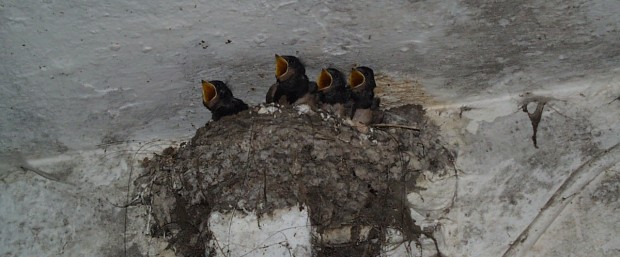
[{"label": "rightmost open-beaked swallow chick at the nest's right end", "polygon": [[365,66],[353,68],[349,75],[349,86],[353,100],[349,117],[364,125],[380,122],[383,118],[378,112],[380,99],[375,97],[377,84],[372,69]]}]

